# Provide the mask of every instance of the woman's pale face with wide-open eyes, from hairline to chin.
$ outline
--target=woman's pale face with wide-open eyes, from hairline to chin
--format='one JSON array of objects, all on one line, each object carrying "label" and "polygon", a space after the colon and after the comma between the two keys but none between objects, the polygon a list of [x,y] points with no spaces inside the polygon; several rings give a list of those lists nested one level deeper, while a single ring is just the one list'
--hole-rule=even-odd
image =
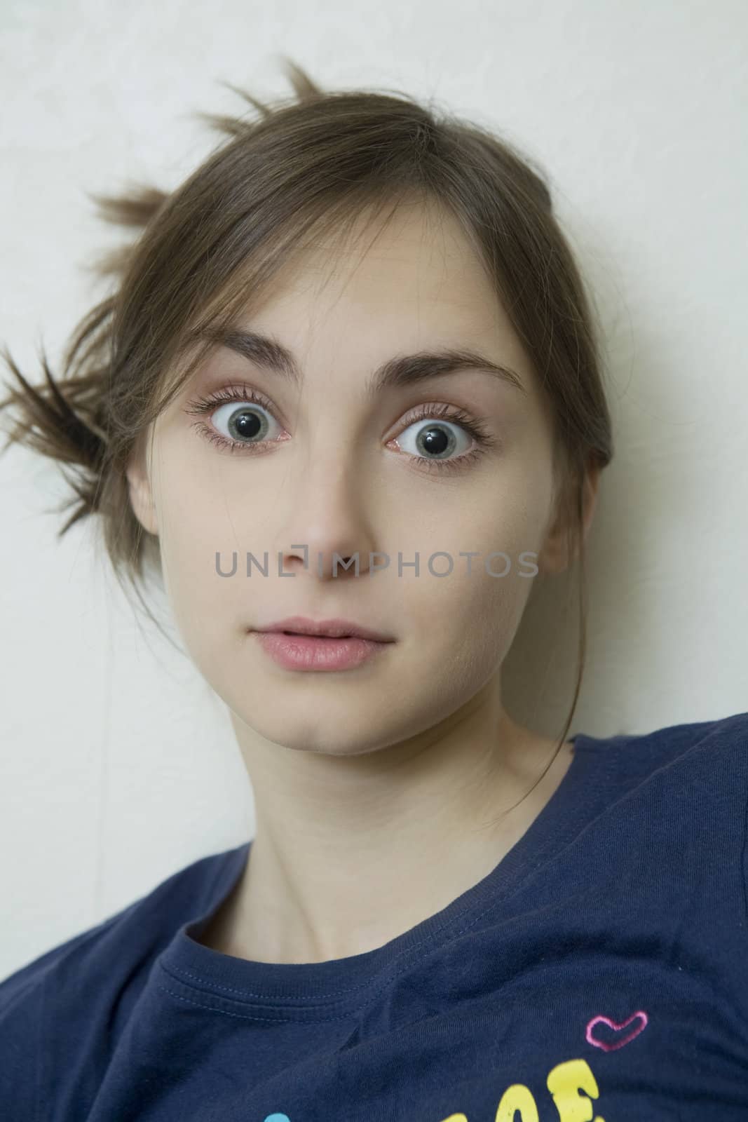
[{"label": "woman's pale face with wide-open eyes, from hairline to chin", "polygon": [[[257,348],[216,347],[156,422],[146,472],[128,473],[185,646],[236,727],[357,755],[438,735],[498,687],[535,567],[558,550],[550,414],[456,222],[404,209],[363,257],[336,254],[332,278],[329,249],[286,266],[237,324],[281,344],[297,380]],[[395,357],[445,349],[519,386],[433,361],[371,392]],[[256,399],[188,412],[229,387]],[[236,572],[219,574],[216,553],[230,573],[234,552]],[[247,555],[266,552],[267,576],[255,563],[247,576]],[[335,554],[358,555],[359,574],[333,576]],[[288,669],[257,629],[297,615],[391,642],[350,669]]]}]

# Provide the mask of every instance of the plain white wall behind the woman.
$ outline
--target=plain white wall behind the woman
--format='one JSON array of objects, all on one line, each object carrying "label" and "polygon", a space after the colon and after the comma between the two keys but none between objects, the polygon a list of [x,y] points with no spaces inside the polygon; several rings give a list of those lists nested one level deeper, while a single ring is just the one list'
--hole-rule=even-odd
[{"label": "plain white wall behind the woman", "polygon": [[[279,52],[493,127],[548,169],[607,333],[617,454],[571,733],[745,711],[747,31],[739,0],[2,4],[0,341],[58,369],[102,295],[85,261],[119,237],[85,192],[175,187],[218,140],[192,113],[246,109],[220,80],[289,93]],[[139,632],[93,526],[56,540],[66,494],[0,458],[0,976],[253,831],[222,702]],[[553,610],[530,603],[507,677],[547,732],[572,681]]]}]

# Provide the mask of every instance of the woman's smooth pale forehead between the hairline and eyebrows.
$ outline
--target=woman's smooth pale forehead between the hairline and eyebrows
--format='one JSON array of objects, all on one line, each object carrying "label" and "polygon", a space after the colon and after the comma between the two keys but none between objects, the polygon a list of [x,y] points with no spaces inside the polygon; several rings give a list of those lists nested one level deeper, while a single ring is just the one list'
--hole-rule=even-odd
[{"label": "woman's smooth pale forehead between the hairline and eyebrows", "polygon": [[462,344],[515,369],[529,366],[477,250],[436,204],[405,203],[385,219],[364,211],[311,238],[242,319],[303,353],[332,347],[373,359],[382,350]]}]

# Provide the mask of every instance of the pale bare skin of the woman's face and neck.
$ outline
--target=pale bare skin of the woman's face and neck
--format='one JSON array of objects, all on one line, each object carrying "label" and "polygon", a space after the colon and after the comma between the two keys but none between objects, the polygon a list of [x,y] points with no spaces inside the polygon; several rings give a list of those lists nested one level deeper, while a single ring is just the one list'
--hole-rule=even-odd
[{"label": "pale bare skin of the woman's face and neck", "polygon": [[[573,752],[566,742],[519,802],[555,742],[509,717],[501,664],[533,579],[572,560],[553,502],[551,414],[532,365],[450,215],[398,211],[364,256],[336,249],[332,280],[326,248],[284,267],[241,321],[294,352],[301,387],[216,348],[128,469],[136,515],[159,539],[175,622],[229,708],[255,797],[250,861],[201,941],[269,963],[361,954],[441,911],[527,830]],[[366,396],[379,364],[436,347],[489,356],[526,393],[458,370]],[[259,453],[216,448],[184,412],[237,384],[274,406],[259,410],[269,425]],[[201,420],[230,439],[228,417],[242,404]],[[408,422],[423,404],[481,419],[498,443],[459,470],[424,470],[415,438],[427,422]],[[446,427],[459,439],[455,459],[474,447],[461,425]],[[584,534],[597,491],[590,470]],[[307,544],[308,569],[294,543]],[[216,574],[219,550],[227,565],[238,552],[236,577]],[[265,550],[269,576],[247,579],[246,553]],[[501,579],[482,564],[497,550],[512,561]],[[393,561],[371,578],[373,551]],[[398,551],[419,554],[419,577],[413,568],[398,576]],[[436,551],[455,560],[442,579],[425,567]],[[470,576],[461,551],[478,553]],[[537,555],[539,577],[518,576],[523,551]],[[278,552],[293,579],[278,577]],[[360,576],[333,578],[335,553],[358,553]],[[352,670],[289,671],[251,631],[289,615],[343,617],[395,642]]]}]

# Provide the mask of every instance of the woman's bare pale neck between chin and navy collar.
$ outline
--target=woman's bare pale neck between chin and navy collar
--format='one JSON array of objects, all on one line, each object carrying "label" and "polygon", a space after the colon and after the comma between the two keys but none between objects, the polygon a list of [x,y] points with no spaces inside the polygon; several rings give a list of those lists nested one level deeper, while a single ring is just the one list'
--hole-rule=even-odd
[{"label": "woman's bare pale neck between chin and navy collar", "polygon": [[556,790],[573,746],[563,745],[527,794],[555,742],[516,725],[489,697],[458,716],[417,742],[348,756],[284,748],[237,728],[257,828],[244,873],[201,941],[256,962],[345,958],[487,876]]}]

